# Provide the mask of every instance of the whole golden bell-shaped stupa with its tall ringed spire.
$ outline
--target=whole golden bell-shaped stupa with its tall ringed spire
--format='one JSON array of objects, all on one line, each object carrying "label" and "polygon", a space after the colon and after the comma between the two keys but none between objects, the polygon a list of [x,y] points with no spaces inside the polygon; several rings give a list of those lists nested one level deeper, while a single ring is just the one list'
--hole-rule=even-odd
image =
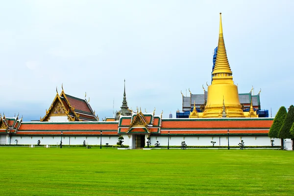
[{"label": "whole golden bell-shaped stupa with its tall ringed spire", "polygon": [[212,82],[207,90],[207,103],[203,118],[221,118],[223,97],[226,98],[226,117],[245,117],[242,110],[238,87],[234,85],[232,71],[226,54],[220,13],[220,34],[216,64],[212,72]]}]

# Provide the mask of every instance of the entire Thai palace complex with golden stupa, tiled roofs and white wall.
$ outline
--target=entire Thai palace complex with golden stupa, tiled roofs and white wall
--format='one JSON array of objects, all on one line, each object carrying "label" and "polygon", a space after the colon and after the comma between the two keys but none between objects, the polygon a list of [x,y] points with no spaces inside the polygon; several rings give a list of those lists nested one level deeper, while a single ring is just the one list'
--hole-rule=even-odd
[{"label": "entire Thai palace complex with golden stupa, tiled roofs and white wall", "polygon": [[[183,97],[183,118],[162,118],[163,111],[156,115],[131,110],[127,106],[125,85],[121,110],[113,118],[99,121],[89,101],[64,92],[55,95],[49,109],[40,122],[23,122],[19,116],[12,118],[0,115],[0,144],[115,145],[119,136],[130,149],[144,148],[150,138],[151,145],[158,141],[161,146],[237,146],[244,140],[246,146],[270,146],[268,137],[273,118],[261,117],[260,97],[252,93],[238,93],[233,82],[224,45],[221,14],[219,42],[212,71],[212,83],[204,94]],[[177,117],[180,112],[177,112]],[[229,138],[228,138],[229,136]],[[147,139],[148,138],[148,139]],[[278,141],[279,139],[275,139]]]}]

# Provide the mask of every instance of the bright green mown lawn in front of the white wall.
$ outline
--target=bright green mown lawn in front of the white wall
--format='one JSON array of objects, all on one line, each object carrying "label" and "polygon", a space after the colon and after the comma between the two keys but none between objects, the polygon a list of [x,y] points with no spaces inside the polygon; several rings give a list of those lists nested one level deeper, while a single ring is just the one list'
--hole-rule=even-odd
[{"label": "bright green mown lawn in front of the white wall", "polygon": [[294,195],[294,152],[0,148],[1,196]]}]

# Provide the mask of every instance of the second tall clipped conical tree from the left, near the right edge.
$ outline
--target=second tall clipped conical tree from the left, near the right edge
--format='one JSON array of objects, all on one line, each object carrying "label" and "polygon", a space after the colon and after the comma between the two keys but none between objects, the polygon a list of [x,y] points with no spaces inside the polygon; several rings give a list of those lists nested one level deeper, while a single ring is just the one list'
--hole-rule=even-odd
[{"label": "second tall clipped conical tree from the left, near the right edge", "polygon": [[284,123],[280,129],[278,137],[282,139],[291,138],[293,140],[294,136],[290,133],[290,129],[293,123],[294,123],[294,106],[291,105],[290,108],[288,109],[288,113],[285,117]]}]

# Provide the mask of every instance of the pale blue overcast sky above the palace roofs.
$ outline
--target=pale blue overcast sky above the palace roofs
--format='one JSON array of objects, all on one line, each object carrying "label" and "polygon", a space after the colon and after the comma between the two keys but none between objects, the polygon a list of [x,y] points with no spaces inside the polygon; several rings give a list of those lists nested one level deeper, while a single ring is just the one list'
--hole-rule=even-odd
[{"label": "pale blue overcast sky above the palace roofs", "polygon": [[[294,104],[293,0],[6,0],[0,6],[0,112],[40,119],[61,84],[101,118],[123,100],[173,117],[180,91],[210,84],[219,13],[239,93]],[[189,91],[187,93],[189,95]]]}]

